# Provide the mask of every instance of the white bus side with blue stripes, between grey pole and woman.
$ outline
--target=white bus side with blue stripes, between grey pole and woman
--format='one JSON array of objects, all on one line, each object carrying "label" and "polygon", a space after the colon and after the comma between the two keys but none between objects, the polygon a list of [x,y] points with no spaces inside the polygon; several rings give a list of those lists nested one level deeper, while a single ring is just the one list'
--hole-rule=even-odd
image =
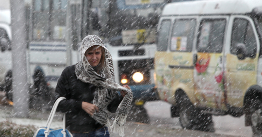
[{"label": "white bus side with blue stripes, between grey pole and woman", "polygon": [[[50,87],[66,66],[80,58],[82,3],[77,0],[32,0],[28,29],[29,82],[36,67],[42,68]],[[73,45],[73,46],[72,46]]]}]

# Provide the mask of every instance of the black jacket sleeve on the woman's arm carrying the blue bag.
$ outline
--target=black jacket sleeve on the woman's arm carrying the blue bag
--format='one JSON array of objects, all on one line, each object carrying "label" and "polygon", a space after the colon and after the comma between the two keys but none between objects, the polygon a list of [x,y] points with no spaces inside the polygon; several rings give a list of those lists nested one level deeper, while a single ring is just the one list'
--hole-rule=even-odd
[{"label": "black jacket sleeve on the woman's arm carrying the blue bag", "polygon": [[54,93],[54,101],[56,101],[59,97],[63,96],[66,99],[62,100],[56,111],[57,112],[79,112],[82,109],[82,101],[77,101],[76,99],[71,99],[70,97],[70,88],[69,88],[69,70],[66,67],[60,78],[58,79],[55,93]]}]

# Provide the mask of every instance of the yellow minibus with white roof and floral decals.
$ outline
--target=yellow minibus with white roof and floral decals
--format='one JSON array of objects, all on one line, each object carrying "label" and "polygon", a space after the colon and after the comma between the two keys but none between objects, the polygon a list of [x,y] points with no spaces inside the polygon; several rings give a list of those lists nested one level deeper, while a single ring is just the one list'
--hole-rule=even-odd
[{"label": "yellow minibus with white roof and floral decals", "polygon": [[157,92],[183,128],[214,131],[212,115],[245,115],[262,135],[261,0],[169,3],[157,32]]}]

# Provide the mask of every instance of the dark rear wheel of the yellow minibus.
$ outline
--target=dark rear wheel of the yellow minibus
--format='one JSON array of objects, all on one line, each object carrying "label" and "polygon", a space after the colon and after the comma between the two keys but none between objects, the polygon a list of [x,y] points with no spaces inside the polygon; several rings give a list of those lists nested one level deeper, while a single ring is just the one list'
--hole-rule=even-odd
[{"label": "dark rear wheel of the yellow minibus", "polygon": [[176,94],[179,105],[179,122],[185,129],[214,132],[211,114],[201,113],[189,100],[184,92]]}]

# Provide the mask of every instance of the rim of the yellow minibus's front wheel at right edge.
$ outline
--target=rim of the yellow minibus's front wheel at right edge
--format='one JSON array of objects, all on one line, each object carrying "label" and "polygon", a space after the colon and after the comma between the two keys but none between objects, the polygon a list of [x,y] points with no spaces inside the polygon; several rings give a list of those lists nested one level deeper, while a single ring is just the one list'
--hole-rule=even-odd
[{"label": "rim of the yellow minibus's front wheel at right edge", "polygon": [[259,133],[262,134],[262,110],[258,109],[251,115],[251,122],[253,129]]}]

